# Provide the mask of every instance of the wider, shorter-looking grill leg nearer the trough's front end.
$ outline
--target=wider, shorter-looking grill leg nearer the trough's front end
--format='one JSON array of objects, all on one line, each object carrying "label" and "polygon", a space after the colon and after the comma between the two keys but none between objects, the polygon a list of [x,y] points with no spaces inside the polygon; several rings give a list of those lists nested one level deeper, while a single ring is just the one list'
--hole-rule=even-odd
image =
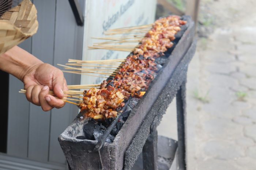
[{"label": "wider, shorter-looking grill leg nearer the trough's front end", "polygon": [[157,170],[157,126],[151,124],[150,134],[142,149],[143,170]]}]

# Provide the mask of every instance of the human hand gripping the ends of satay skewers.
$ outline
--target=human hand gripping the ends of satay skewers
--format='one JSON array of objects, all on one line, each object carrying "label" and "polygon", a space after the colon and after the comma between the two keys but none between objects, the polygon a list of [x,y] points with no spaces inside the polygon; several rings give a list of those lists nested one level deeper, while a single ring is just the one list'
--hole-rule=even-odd
[{"label": "human hand gripping the ends of satay skewers", "polygon": [[[31,103],[41,106],[42,110],[49,111],[53,107],[61,108],[65,102],[63,91],[67,91],[67,82],[63,72],[58,68],[46,64],[39,63],[24,72],[22,78],[26,98]],[[54,95],[60,99],[49,95],[49,90],[53,90]]]}]

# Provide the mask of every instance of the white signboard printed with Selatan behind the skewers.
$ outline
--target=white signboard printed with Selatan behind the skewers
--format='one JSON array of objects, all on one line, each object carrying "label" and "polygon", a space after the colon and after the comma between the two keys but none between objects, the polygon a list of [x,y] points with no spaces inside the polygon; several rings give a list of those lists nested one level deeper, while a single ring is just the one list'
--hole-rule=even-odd
[{"label": "white signboard printed with Selatan behind the skewers", "polygon": [[[83,60],[125,58],[129,52],[89,50],[108,29],[154,22],[157,0],[86,0],[84,13]],[[118,36],[118,35],[116,35]],[[104,78],[81,76],[81,84],[101,83]]]}]

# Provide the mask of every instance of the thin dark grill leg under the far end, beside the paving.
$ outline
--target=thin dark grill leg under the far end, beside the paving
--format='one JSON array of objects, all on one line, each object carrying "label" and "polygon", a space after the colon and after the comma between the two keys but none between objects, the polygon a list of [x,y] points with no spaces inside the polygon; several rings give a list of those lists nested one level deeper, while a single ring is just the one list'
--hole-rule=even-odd
[{"label": "thin dark grill leg under the far end, beside the paving", "polygon": [[181,84],[176,94],[177,103],[177,125],[178,125],[178,170],[186,170],[186,81]]}]

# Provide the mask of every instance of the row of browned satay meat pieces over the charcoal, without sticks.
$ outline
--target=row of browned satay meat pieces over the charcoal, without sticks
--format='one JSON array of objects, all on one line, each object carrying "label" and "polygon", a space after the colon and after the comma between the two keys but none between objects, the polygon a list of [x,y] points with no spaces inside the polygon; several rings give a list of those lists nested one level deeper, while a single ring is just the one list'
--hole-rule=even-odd
[{"label": "row of browned satay meat pieces over the charcoal, without sticks", "polygon": [[117,108],[125,105],[125,99],[130,96],[142,97],[157,74],[155,59],[163,56],[173,46],[175,34],[186,23],[179,16],[155,21],[139,47],[126,58],[113,79],[104,80],[99,89],[84,91],[81,110],[87,111],[86,115],[91,118],[112,118],[117,116]]}]

